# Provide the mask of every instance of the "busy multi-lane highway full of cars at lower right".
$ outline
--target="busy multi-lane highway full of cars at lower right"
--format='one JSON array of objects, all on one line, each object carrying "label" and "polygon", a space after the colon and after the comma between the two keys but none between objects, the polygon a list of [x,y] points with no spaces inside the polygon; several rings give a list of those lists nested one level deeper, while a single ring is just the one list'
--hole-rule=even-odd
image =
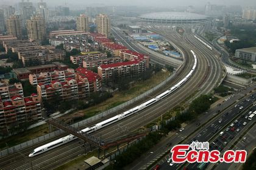
[{"label": "busy multi-lane highway full of cars at lower right", "polygon": [[[241,134],[243,129],[246,129],[246,127],[249,127],[251,124],[255,123],[255,120],[249,121],[247,118],[245,118],[247,115],[249,115],[249,111],[256,110],[256,106],[252,106],[255,97],[256,94],[245,99],[243,98],[242,100],[233,104],[230,109],[216,117],[215,121],[204,126],[204,128],[194,135],[190,141],[187,141],[187,144],[190,144],[191,141],[196,140],[210,141],[211,150],[218,149],[222,152],[226,151],[228,148],[225,147],[229,145],[236,135]],[[241,106],[243,106],[243,108]],[[246,124],[244,124],[244,122],[246,122]],[[220,132],[224,132],[224,134],[219,135]],[[167,160],[170,156],[171,155],[166,157],[164,160]],[[174,163],[170,166],[170,163],[171,161],[169,163],[165,161],[161,169],[183,169],[184,167],[188,169],[196,169],[196,167],[199,165],[199,163]]]}]

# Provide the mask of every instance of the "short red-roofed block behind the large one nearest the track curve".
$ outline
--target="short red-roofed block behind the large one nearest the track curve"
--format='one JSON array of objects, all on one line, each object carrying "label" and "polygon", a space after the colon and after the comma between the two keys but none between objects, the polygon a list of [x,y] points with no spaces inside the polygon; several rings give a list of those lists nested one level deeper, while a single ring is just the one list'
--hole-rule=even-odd
[{"label": "short red-roofed block behind the large one nearest the track curve", "polygon": [[144,60],[146,61],[146,68],[149,68],[149,56],[146,56],[141,53],[133,52],[132,50],[123,50],[119,53],[119,56],[123,60],[130,60],[130,61],[135,61],[135,60]]}]

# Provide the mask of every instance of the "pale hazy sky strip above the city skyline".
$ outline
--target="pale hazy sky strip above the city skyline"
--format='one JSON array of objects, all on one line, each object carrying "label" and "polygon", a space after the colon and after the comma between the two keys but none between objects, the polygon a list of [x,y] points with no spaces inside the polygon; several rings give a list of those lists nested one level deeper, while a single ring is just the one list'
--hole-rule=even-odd
[{"label": "pale hazy sky strip above the city skyline", "polygon": [[[1,3],[5,2],[20,2],[21,0],[0,0]],[[25,0],[27,1],[27,0]],[[30,2],[39,2],[40,0],[30,0]],[[207,2],[211,4],[220,4],[220,5],[241,5],[246,6],[256,6],[256,0],[43,0],[49,5],[64,5],[65,2],[67,5],[81,5],[81,6],[90,6],[90,5],[140,5],[140,6],[204,6]]]}]

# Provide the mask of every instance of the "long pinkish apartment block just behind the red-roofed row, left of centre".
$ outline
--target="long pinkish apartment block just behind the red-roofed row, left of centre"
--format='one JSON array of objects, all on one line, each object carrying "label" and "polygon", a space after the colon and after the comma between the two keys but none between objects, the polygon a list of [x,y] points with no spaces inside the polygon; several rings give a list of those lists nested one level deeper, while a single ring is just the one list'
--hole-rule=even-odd
[{"label": "long pinkish apartment block just behind the red-roofed row, left of centre", "polygon": [[33,86],[37,84],[50,84],[51,81],[65,82],[68,78],[75,78],[74,69],[54,70],[54,72],[41,72],[40,74],[30,74],[29,82]]}]

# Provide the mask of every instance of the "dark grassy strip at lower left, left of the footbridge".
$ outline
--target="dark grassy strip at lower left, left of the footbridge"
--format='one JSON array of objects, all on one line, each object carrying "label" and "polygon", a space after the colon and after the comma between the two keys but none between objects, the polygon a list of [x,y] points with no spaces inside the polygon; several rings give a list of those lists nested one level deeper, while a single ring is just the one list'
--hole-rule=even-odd
[{"label": "dark grassy strip at lower left, left of the footbridge", "polygon": [[9,147],[12,147],[17,144],[32,140],[34,138],[40,137],[48,133],[49,133],[48,124],[43,124],[33,129],[29,129],[26,132],[23,132],[22,134],[13,135],[12,137],[2,139],[0,141],[0,148],[5,149],[6,143],[9,145]]}]

